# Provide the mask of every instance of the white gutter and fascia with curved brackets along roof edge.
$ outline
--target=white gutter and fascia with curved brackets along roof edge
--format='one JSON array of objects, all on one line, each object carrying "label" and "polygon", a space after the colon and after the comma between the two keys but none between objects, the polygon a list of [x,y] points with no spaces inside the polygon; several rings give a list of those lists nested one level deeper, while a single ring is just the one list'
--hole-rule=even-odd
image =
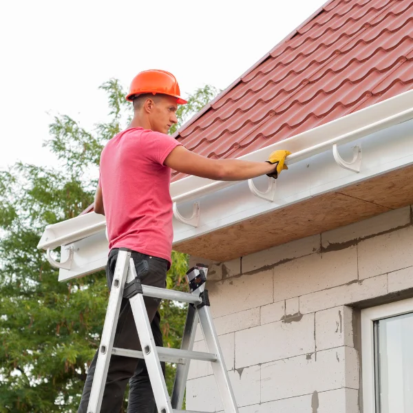
[{"label": "white gutter and fascia with curved brackets along roof edge", "polygon": [[[223,182],[189,176],[173,182],[173,243],[411,165],[412,131],[413,91],[409,91],[240,158],[262,161],[271,151],[289,150],[289,170],[278,180]],[[104,268],[105,226],[103,215],[87,213],[46,227],[38,248],[45,249],[52,265],[60,268],[59,280]],[[61,263],[50,253],[59,245]]]}]

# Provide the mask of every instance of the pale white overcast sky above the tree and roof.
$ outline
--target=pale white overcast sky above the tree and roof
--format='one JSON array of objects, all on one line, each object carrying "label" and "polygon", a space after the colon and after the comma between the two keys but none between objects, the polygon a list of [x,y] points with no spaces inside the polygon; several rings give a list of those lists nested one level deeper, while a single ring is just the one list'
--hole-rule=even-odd
[{"label": "pale white overcast sky above the tree and roof", "polygon": [[0,5],[0,169],[47,165],[48,125],[105,120],[99,85],[172,72],[183,94],[235,81],[325,0],[23,0]]}]

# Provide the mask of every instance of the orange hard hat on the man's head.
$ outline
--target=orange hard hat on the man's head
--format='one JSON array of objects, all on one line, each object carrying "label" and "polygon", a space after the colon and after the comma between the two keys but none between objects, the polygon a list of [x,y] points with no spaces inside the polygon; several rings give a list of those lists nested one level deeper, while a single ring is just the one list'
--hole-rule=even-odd
[{"label": "orange hard hat on the man's head", "polygon": [[165,70],[145,70],[137,74],[129,87],[126,98],[131,101],[133,96],[144,93],[167,94],[177,98],[176,103],[179,105],[187,103],[187,100],[180,97],[179,85],[175,76],[165,72]]}]

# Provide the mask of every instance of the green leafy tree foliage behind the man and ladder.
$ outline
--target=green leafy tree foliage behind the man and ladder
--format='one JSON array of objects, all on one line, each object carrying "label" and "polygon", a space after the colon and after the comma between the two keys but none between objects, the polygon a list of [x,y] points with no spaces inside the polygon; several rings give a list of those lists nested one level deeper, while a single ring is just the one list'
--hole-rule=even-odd
[{"label": "green leafy tree foliage behind the man and ladder", "polygon": [[[56,116],[45,145],[59,167],[17,163],[0,172],[0,412],[76,412],[98,347],[108,291],[102,272],[59,283],[36,246],[47,224],[74,218],[94,198],[100,151],[127,125],[130,107],[116,79],[101,86],[109,120],[87,131]],[[187,120],[216,94],[206,86],[180,107]],[[171,131],[173,133],[173,130]],[[59,254],[57,254],[59,255]],[[169,288],[186,290],[187,256],[173,252]],[[164,345],[178,347],[186,308],[161,305]],[[173,366],[167,370],[169,389]]]}]

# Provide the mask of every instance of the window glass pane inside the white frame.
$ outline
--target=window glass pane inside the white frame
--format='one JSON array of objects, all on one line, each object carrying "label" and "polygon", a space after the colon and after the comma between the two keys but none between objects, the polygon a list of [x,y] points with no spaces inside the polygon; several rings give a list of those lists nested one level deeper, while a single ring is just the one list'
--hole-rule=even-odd
[{"label": "window glass pane inside the white frame", "polygon": [[413,413],[413,313],[375,321],[377,413]]}]

